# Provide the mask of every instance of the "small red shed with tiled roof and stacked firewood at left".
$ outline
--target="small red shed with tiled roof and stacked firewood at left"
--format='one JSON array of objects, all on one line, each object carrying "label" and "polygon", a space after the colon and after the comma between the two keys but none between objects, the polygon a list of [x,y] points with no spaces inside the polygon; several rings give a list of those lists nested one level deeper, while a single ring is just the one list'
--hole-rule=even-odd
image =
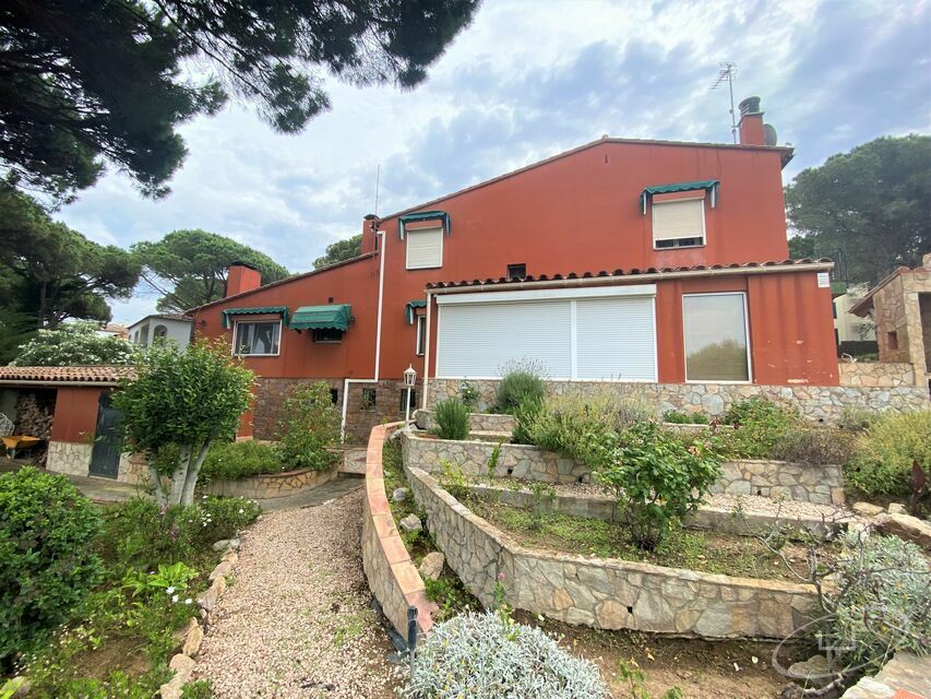
[{"label": "small red shed with tiled roof and stacked firewood at left", "polygon": [[131,483],[147,479],[138,459],[122,452],[119,413],[110,393],[131,367],[0,367],[0,406],[17,429],[17,408],[25,396],[53,406],[51,430],[44,445],[46,469],[76,476],[103,476]]}]

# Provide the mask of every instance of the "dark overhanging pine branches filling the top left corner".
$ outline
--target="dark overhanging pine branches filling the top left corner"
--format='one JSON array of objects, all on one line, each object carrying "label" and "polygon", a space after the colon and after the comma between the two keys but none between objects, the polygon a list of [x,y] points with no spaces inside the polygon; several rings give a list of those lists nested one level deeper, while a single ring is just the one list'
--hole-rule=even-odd
[{"label": "dark overhanging pine branches filling the top left corner", "polygon": [[147,196],[186,155],[178,125],[228,94],[273,128],[329,107],[324,78],[416,85],[478,0],[12,0],[0,8],[0,161],[67,198],[107,161]]}]

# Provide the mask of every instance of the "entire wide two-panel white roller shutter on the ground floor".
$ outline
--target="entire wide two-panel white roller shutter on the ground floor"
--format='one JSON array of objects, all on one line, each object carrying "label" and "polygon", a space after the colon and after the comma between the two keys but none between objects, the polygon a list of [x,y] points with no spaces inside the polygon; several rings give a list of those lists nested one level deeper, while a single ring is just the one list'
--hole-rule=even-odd
[{"label": "entire wide two-panel white roller shutter on the ground floor", "polygon": [[656,381],[654,295],[642,286],[441,296],[437,376],[493,378],[509,360],[532,359],[551,379]]}]

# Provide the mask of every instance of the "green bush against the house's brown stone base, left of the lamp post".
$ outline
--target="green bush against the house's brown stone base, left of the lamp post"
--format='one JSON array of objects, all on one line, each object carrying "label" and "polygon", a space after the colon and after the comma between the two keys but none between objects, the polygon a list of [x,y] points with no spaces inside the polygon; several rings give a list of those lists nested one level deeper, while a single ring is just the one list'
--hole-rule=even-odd
[{"label": "green bush against the house's brown stone base, left of the lamp post", "polygon": [[336,461],[327,451],[339,441],[339,411],[330,396],[330,384],[318,381],[298,386],[282,405],[287,419],[278,426],[278,453],[289,469],[326,471]]}]

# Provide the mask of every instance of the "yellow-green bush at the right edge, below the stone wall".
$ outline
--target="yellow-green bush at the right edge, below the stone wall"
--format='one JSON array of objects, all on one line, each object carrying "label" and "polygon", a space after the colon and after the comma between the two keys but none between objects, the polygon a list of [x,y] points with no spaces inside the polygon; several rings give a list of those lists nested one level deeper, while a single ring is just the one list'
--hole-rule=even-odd
[{"label": "yellow-green bush at the right edge, below the stone wall", "polygon": [[867,495],[906,495],[916,461],[931,469],[931,411],[888,412],[861,434],[845,475]]}]

